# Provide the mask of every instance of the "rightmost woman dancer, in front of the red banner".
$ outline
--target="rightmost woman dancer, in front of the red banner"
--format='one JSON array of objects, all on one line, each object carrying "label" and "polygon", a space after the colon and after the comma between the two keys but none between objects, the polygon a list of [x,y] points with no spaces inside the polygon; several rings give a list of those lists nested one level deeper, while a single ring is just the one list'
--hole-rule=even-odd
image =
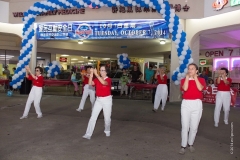
[{"label": "rightmost woman dancer, in front of the red banner", "polygon": [[230,86],[232,83],[232,79],[227,77],[228,69],[221,68],[219,71],[219,77],[217,78],[217,87],[218,92],[216,95],[216,105],[214,110],[214,122],[215,127],[218,127],[219,117],[221,108],[223,106],[224,110],[224,123],[228,124],[228,116],[230,111],[230,104],[231,104],[231,94],[230,94]]}]

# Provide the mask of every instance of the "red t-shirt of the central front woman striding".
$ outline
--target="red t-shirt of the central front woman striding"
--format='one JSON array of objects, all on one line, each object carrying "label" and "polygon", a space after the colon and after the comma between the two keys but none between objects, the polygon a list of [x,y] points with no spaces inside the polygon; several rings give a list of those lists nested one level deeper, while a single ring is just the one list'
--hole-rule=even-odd
[{"label": "red t-shirt of the central front woman striding", "polygon": [[105,81],[108,82],[107,85],[103,85],[98,78],[95,78],[93,80],[95,86],[96,86],[96,95],[97,97],[107,97],[111,95],[111,87],[112,87],[112,81],[110,78],[106,77]]}]

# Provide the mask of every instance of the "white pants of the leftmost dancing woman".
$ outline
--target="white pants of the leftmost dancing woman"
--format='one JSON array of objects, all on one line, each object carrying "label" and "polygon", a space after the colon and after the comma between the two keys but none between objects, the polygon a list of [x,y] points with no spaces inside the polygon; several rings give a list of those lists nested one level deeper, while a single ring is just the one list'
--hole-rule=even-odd
[{"label": "white pants of the leftmost dancing woman", "polygon": [[40,109],[41,98],[42,98],[42,87],[33,86],[30,91],[30,94],[28,96],[28,100],[27,100],[27,103],[25,106],[23,116],[28,116],[28,112],[31,108],[32,102],[34,102],[34,107],[35,107],[37,115],[42,116],[42,112]]}]

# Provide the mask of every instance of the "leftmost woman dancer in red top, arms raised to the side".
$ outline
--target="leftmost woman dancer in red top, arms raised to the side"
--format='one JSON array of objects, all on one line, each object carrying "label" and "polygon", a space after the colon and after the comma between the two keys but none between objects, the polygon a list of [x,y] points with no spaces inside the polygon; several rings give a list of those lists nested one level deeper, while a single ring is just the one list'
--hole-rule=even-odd
[{"label": "leftmost woman dancer in red top, arms raised to the side", "polygon": [[40,109],[40,100],[42,98],[42,87],[43,87],[43,69],[41,67],[35,68],[35,75],[30,71],[29,66],[26,66],[26,77],[32,81],[32,89],[28,96],[28,100],[25,106],[23,116],[20,119],[28,117],[28,112],[30,110],[32,102],[34,102],[34,107],[37,113],[37,118],[42,118],[42,112]]}]

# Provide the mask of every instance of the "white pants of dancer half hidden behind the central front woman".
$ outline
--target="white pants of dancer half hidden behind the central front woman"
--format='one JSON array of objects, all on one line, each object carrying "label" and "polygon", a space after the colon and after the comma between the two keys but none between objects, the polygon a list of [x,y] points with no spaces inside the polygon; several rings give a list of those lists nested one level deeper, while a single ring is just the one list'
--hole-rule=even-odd
[{"label": "white pants of dancer half hidden behind the central front woman", "polygon": [[79,104],[79,108],[78,109],[83,110],[88,95],[90,95],[90,101],[91,101],[92,108],[93,108],[93,105],[94,105],[94,102],[95,102],[95,89],[94,89],[94,87],[86,84],[84,86],[82,99],[81,99],[81,102]]}]

